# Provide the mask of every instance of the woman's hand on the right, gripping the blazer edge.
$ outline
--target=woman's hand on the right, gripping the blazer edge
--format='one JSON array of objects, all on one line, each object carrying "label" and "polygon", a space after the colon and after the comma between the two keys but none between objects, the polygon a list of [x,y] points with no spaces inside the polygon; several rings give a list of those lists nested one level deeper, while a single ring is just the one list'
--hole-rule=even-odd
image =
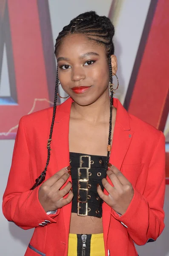
[{"label": "woman's hand on the right, gripping the blazer edge", "polygon": [[129,207],[134,195],[132,184],[115,166],[112,166],[110,163],[109,170],[106,173],[114,186],[110,185],[107,179],[104,178],[102,183],[109,195],[105,195],[100,186],[97,187],[97,192],[106,204],[112,207],[116,212],[123,215]]}]

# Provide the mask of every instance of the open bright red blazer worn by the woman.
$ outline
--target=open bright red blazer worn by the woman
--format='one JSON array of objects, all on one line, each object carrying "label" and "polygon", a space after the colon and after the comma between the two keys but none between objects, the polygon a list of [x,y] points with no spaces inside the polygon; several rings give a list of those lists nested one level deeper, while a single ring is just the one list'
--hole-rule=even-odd
[{"label": "open bright red blazer worn by the woman", "polygon": [[[46,179],[69,165],[71,104],[69,98],[57,107]],[[114,99],[114,106],[117,116],[110,163],[121,170],[135,192],[121,217],[103,203],[105,252],[106,256],[108,250],[110,256],[136,256],[133,241],[143,245],[156,240],[164,228],[165,139],[161,131],[127,113],[119,100]],[[47,108],[20,119],[3,196],[3,213],[9,221],[25,230],[35,227],[25,256],[67,256],[68,252],[72,204],[47,215],[38,200],[39,187],[30,190],[46,165],[52,111]],[[44,221],[46,226],[40,227]]]}]

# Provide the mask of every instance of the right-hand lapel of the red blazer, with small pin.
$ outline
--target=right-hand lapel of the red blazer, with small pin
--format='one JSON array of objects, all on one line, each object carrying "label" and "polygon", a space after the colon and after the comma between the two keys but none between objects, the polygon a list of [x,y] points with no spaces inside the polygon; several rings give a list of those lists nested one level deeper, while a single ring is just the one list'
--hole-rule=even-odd
[{"label": "right-hand lapel of the red blazer, with small pin", "polygon": [[[112,165],[116,166],[117,169],[121,169],[123,164],[123,160],[126,156],[126,153],[129,149],[129,145],[132,141],[132,136],[134,131],[131,131],[129,125],[129,115],[127,111],[123,108],[121,103],[114,99],[114,106],[117,108],[117,115],[115,121],[115,128],[113,133],[113,140],[112,140],[112,149],[110,153],[109,162]],[[110,184],[112,184],[109,177],[107,180]],[[106,189],[104,189],[104,193],[108,195]],[[108,231],[109,231],[109,224],[111,218],[111,207],[108,204],[103,203],[103,233],[104,233],[104,241],[106,243]]]}]

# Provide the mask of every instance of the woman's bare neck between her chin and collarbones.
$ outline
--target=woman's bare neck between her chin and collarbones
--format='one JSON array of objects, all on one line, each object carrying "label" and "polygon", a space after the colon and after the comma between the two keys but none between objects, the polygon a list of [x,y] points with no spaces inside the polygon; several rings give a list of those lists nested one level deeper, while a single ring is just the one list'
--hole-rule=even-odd
[{"label": "woman's bare neck between her chin and collarbones", "polygon": [[102,122],[109,122],[110,116],[110,97],[109,91],[103,93],[94,103],[81,106],[76,102],[72,103],[72,117],[85,119],[87,122],[96,125]]}]

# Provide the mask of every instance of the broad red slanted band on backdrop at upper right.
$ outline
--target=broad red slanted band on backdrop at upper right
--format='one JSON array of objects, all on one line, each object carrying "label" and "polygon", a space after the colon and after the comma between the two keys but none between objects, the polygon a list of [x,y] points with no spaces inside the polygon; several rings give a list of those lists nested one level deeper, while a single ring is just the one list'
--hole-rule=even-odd
[{"label": "broad red slanted band on backdrop at upper right", "polygon": [[[169,112],[169,1],[158,1],[129,105],[129,113],[164,130]],[[166,153],[166,177],[169,154]]]}]

